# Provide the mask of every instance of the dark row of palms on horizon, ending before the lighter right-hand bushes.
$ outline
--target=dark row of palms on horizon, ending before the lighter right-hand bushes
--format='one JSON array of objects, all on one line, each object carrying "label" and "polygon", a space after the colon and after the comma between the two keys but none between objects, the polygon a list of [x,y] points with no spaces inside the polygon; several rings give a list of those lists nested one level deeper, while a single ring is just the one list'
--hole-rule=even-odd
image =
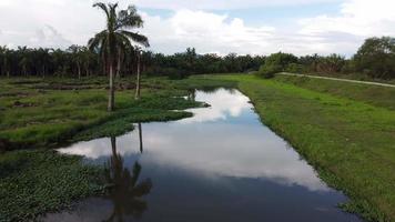
[{"label": "dark row of palms on horizon, ending before the lighter right-hand bushes", "polygon": [[[120,58],[115,58],[117,77],[136,73],[139,51],[131,47],[124,49]],[[121,62],[119,62],[119,61]],[[152,51],[140,52],[141,71],[146,75],[184,77],[201,73],[225,73],[254,71],[264,63],[265,57],[237,56],[225,57],[215,53],[198,54],[195,49],[166,56]],[[71,46],[65,50],[27,48],[9,49],[0,47],[0,74],[2,77],[69,77],[82,78],[105,75],[105,60],[100,52],[83,46]]]}]

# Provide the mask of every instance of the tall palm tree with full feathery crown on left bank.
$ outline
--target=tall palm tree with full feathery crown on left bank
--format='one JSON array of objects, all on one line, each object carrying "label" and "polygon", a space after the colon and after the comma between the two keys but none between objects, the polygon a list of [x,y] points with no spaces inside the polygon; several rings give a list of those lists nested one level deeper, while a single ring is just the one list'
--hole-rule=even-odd
[{"label": "tall palm tree with full feathery crown on left bank", "polygon": [[115,57],[119,56],[125,47],[131,46],[133,40],[136,43],[149,47],[148,38],[138,33],[131,32],[130,29],[141,28],[143,20],[138,14],[134,6],[130,6],[126,10],[121,10],[117,13],[118,3],[94,3],[93,7],[102,9],[107,16],[107,29],[97,33],[89,40],[91,50],[99,50],[104,58],[109,68],[110,75],[110,92],[108,110],[114,109],[114,63]]}]

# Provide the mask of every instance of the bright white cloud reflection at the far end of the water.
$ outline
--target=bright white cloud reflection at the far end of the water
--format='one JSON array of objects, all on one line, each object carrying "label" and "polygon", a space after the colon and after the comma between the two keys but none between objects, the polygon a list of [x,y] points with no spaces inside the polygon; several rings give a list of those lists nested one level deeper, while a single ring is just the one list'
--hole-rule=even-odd
[{"label": "bright white cloud reflection at the far end of the water", "polygon": [[229,115],[239,117],[244,109],[250,109],[249,98],[239,91],[219,89],[214,93],[196,92],[196,101],[209,103],[210,108],[190,109],[192,118],[180,120],[181,123],[226,120]]}]

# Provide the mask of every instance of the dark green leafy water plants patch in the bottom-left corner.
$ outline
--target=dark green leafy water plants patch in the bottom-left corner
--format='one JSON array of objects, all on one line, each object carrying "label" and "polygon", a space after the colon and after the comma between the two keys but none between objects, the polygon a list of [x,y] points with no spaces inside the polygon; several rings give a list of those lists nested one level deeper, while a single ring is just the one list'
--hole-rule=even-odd
[{"label": "dark green leafy water plants patch in the bottom-left corner", "polygon": [[102,170],[54,151],[0,155],[0,221],[28,221],[103,191]]}]

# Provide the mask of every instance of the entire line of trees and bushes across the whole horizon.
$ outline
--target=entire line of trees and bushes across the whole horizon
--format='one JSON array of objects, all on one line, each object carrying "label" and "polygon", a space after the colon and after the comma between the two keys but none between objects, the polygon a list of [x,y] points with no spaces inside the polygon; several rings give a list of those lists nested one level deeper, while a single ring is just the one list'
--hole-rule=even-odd
[{"label": "entire line of trees and bushes across the whole horizon", "polygon": [[[104,52],[82,46],[71,46],[65,50],[0,47],[0,74],[42,78],[105,75],[109,68],[102,53]],[[123,48],[122,53],[114,54],[115,77],[136,74],[139,68],[136,63],[140,63],[141,72],[145,75],[171,78],[260,70],[260,73],[281,71],[327,75],[356,73],[374,79],[395,79],[395,39],[391,37],[367,39],[350,59],[340,54],[296,57],[283,52],[269,57],[235,53],[221,57],[215,53],[198,54],[193,48],[166,56],[141,51],[133,46]]]}]

